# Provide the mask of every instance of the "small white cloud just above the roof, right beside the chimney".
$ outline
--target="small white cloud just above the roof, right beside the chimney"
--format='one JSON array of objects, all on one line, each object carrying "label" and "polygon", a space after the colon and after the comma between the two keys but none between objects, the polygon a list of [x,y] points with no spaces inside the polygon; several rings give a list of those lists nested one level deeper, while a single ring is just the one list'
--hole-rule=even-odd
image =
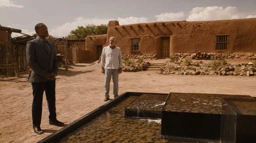
[{"label": "small white cloud just above the roof, right beside the chimney", "polygon": [[128,17],[128,18],[117,18],[119,25],[137,24],[137,23],[149,23],[146,17]]}]

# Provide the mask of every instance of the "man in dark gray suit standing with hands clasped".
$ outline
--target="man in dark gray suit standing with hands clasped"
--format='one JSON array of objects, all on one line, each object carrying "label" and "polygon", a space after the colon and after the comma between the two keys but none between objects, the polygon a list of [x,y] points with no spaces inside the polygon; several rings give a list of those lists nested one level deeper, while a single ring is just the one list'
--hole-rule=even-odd
[{"label": "man in dark gray suit standing with hands clasped", "polygon": [[43,93],[45,92],[50,112],[49,123],[63,126],[64,123],[56,119],[55,107],[55,76],[58,71],[58,60],[54,45],[45,38],[49,36],[45,24],[35,25],[36,39],[27,42],[27,61],[31,67],[28,81],[32,83],[33,103],[32,121],[35,134],[42,134],[40,128],[42,118]]}]

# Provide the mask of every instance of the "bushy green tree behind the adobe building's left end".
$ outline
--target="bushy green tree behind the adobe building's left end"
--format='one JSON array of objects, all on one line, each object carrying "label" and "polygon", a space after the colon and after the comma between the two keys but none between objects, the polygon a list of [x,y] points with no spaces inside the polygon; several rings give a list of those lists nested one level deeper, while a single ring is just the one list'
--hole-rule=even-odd
[{"label": "bushy green tree behind the adobe building's left end", "polygon": [[68,39],[83,39],[87,35],[98,35],[98,34],[107,34],[108,24],[94,25],[87,24],[85,27],[77,26],[77,29],[71,30]]}]

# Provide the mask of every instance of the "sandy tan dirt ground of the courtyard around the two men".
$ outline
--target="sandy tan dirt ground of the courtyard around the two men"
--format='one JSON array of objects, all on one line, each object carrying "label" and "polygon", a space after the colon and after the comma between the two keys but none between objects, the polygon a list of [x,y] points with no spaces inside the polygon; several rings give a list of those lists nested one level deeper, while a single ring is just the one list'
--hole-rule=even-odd
[{"label": "sandy tan dirt ground of the courtyard around the two men", "polygon": [[[166,59],[146,60],[163,63]],[[249,60],[227,60],[228,63],[248,63]],[[19,78],[0,76],[0,143],[35,143],[61,129],[49,125],[46,98],[43,99],[41,129],[32,128],[32,86],[28,73]],[[56,80],[57,119],[65,125],[103,105],[104,74],[97,61],[75,64],[68,71],[60,68]],[[163,75],[156,71],[122,72],[119,75],[119,95],[129,92],[210,93],[256,96],[256,76]],[[111,83],[110,93],[113,93]],[[110,94],[113,99],[113,94]]]}]

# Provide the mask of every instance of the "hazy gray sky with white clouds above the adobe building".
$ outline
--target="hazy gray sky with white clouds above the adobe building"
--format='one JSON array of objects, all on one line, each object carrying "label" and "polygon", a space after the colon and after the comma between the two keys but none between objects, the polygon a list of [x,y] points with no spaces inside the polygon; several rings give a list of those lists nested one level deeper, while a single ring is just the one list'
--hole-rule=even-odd
[{"label": "hazy gray sky with white clouds above the adobe building", "polygon": [[[0,24],[34,34],[44,23],[55,37],[77,26],[256,17],[256,0],[0,0]],[[21,34],[12,33],[12,37]]]}]

